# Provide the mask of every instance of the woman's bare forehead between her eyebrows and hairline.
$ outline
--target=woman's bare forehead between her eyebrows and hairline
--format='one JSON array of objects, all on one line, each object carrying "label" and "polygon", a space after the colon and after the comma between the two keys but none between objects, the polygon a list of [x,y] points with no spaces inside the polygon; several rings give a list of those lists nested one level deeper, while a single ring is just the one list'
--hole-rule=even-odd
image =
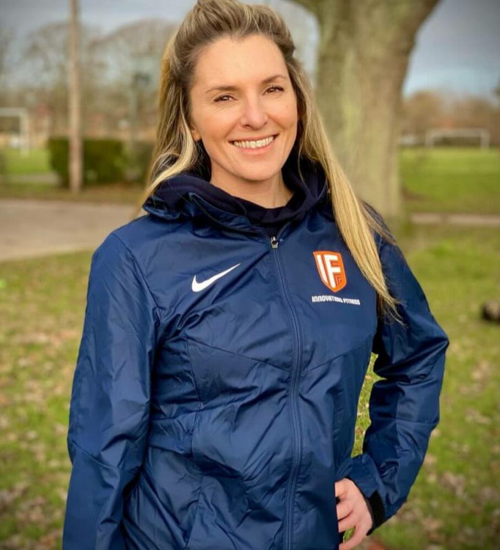
[{"label": "woman's bare forehead between her eyebrows and hairline", "polygon": [[223,36],[198,54],[193,88],[262,81],[279,73],[288,74],[286,63],[271,39],[260,34],[242,39]]}]

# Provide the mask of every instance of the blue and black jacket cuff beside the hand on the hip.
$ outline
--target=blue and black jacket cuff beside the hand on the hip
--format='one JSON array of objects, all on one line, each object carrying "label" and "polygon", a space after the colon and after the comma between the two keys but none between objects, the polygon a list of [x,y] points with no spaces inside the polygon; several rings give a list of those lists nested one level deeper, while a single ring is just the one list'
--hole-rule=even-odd
[{"label": "blue and black jacket cuff beside the hand on the hip", "polygon": [[356,483],[372,515],[373,525],[370,531],[367,532],[367,535],[371,535],[386,519],[383,498],[378,490],[378,479],[375,477],[378,477],[378,475],[372,471],[374,468],[376,469],[376,466],[368,454],[359,454],[358,456],[354,456],[352,470],[346,476]]}]

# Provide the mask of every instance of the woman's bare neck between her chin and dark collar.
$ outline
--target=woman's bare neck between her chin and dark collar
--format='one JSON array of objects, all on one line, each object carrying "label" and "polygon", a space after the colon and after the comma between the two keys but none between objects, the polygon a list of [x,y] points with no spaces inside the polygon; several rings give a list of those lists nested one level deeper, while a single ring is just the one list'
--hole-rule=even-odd
[{"label": "woman's bare neck between her chin and dark collar", "polygon": [[266,181],[214,181],[214,175],[210,183],[229,195],[251,201],[264,208],[278,208],[285,206],[291,199],[293,192],[286,187],[281,170],[272,179]]}]

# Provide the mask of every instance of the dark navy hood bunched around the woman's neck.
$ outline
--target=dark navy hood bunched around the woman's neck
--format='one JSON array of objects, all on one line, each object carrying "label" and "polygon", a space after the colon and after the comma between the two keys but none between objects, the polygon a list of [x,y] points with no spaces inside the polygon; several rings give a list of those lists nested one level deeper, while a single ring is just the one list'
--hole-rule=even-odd
[{"label": "dark navy hood bunched around the woman's neck", "polygon": [[285,184],[293,191],[293,196],[285,206],[278,208],[264,208],[234,197],[211,184],[207,174],[201,171],[181,173],[163,181],[146,199],[143,208],[167,221],[208,217],[236,230],[252,230],[255,225],[299,220],[308,210],[317,206],[331,212],[328,184],[321,166],[301,157],[300,170],[304,181],[300,178],[297,167],[297,153],[294,148],[282,168]]}]

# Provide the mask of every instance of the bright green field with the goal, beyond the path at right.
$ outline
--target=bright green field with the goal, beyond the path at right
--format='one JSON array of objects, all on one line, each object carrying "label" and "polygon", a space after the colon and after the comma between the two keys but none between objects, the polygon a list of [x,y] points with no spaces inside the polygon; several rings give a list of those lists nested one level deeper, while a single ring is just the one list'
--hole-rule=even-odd
[{"label": "bright green field with the goal, beyond the path at right", "polygon": [[407,148],[400,177],[409,212],[500,214],[500,151]]}]

